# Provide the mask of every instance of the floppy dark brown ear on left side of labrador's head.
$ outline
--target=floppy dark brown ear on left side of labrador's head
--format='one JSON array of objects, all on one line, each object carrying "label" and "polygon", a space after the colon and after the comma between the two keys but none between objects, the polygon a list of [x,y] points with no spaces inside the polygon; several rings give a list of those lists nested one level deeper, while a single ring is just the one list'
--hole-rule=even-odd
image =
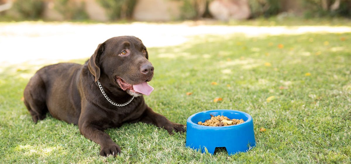
[{"label": "floppy dark brown ear on left side of labrador's head", "polygon": [[104,52],[105,50],[105,43],[99,44],[98,48],[96,48],[95,52],[93,55],[91,55],[89,61],[88,61],[88,68],[89,71],[94,75],[95,77],[95,82],[99,80],[100,78],[100,55]]}]

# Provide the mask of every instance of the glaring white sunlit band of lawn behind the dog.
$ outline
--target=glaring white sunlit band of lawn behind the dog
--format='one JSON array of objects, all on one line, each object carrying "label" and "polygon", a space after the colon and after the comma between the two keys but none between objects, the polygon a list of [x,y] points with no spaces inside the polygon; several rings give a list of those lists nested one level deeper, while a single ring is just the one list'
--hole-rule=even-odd
[{"label": "glaring white sunlit band of lawn behind the dog", "polygon": [[[74,24],[66,22],[18,22],[4,24],[2,25],[2,29],[3,31],[0,33],[0,36],[2,40],[6,41],[0,40],[0,44],[2,45],[0,53],[12,54],[13,50],[17,50],[16,55],[5,55],[3,57],[5,63],[11,64],[18,64],[24,61],[37,61],[37,59],[66,61],[88,58],[102,40],[111,36],[111,31],[113,31],[113,35],[115,36],[138,36],[148,48],[182,44],[183,47],[191,47],[199,42],[198,38],[200,38],[201,42],[207,43],[217,41],[217,38],[207,37],[208,35],[218,36],[222,39],[230,39],[233,34],[244,35],[248,38],[257,38],[276,35],[301,35],[306,33],[351,32],[351,27],[348,26],[189,26],[186,24],[152,24],[143,22],[106,25]],[[119,30],[116,31],[115,29]],[[140,31],[140,29],[144,29],[148,32],[145,33],[144,31]],[[100,32],[96,34],[90,33],[90,31],[97,30]],[[170,33],[170,31],[172,32]],[[90,33],[89,38],[91,39],[86,39],[87,33]],[[194,36],[196,36],[197,39],[192,39]],[[341,40],[344,41],[346,38],[343,37]],[[256,41],[256,39],[253,41]],[[77,42],[80,44],[75,44]],[[187,42],[192,44],[184,44]],[[20,50],[17,45],[22,46]],[[46,46],[38,48],[38,45]],[[58,47],[57,45],[60,46]],[[258,52],[260,50],[253,48],[252,51]],[[50,53],[48,54],[48,52]]]}]

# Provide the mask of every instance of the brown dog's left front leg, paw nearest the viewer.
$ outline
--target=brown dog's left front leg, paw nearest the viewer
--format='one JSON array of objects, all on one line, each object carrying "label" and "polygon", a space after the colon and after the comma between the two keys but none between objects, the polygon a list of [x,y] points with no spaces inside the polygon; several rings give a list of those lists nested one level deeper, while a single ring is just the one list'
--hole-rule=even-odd
[{"label": "brown dog's left front leg, paw nearest the viewer", "polygon": [[101,156],[117,156],[119,153],[121,153],[120,147],[113,142],[107,133],[99,129],[97,125],[94,125],[87,120],[81,120],[83,119],[79,119],[78,124],[80,133],[86,138],[100,145]]}]

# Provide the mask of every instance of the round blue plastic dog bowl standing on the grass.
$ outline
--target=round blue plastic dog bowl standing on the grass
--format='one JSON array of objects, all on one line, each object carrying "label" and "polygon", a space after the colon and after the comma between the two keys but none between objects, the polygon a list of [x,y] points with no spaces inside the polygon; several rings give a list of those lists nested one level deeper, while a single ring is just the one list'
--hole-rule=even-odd
[{"label": "round blue plastic dog bowl standing on the grass", "polygon": [[[230,126],[204,126],[213,116],[223,115],[230,119],[243,119],[245,122]],[[229,155],[246,152],[256,146],[253,132],[253,120],[250,114],[236,110],[209,110],[191,115],[186,121],[186,144],[192,149],[200,149],[202,153],[213,154],[216,147],[225,147]]]}]

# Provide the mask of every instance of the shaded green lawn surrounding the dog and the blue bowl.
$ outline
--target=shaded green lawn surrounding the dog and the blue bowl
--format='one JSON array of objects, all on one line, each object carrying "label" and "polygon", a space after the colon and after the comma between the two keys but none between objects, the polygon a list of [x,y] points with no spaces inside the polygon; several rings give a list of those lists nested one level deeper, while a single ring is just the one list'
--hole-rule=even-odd
[{"label": "shaded green lawn surrounding the dog and the blue bowl", "polygon": [[351,33],[204,35],[149,48],[155,90],[145,99],[154,111],[182,124],[211,109],[253,117],[256,147],[232,156],[188,149],[186,133],[136,123],[108,129],[122,153],[101,157],[77,126],[51,116],[33,124],[21,97],[37,66],[1,67],[0,163],[351,163],[350,41]]}]

